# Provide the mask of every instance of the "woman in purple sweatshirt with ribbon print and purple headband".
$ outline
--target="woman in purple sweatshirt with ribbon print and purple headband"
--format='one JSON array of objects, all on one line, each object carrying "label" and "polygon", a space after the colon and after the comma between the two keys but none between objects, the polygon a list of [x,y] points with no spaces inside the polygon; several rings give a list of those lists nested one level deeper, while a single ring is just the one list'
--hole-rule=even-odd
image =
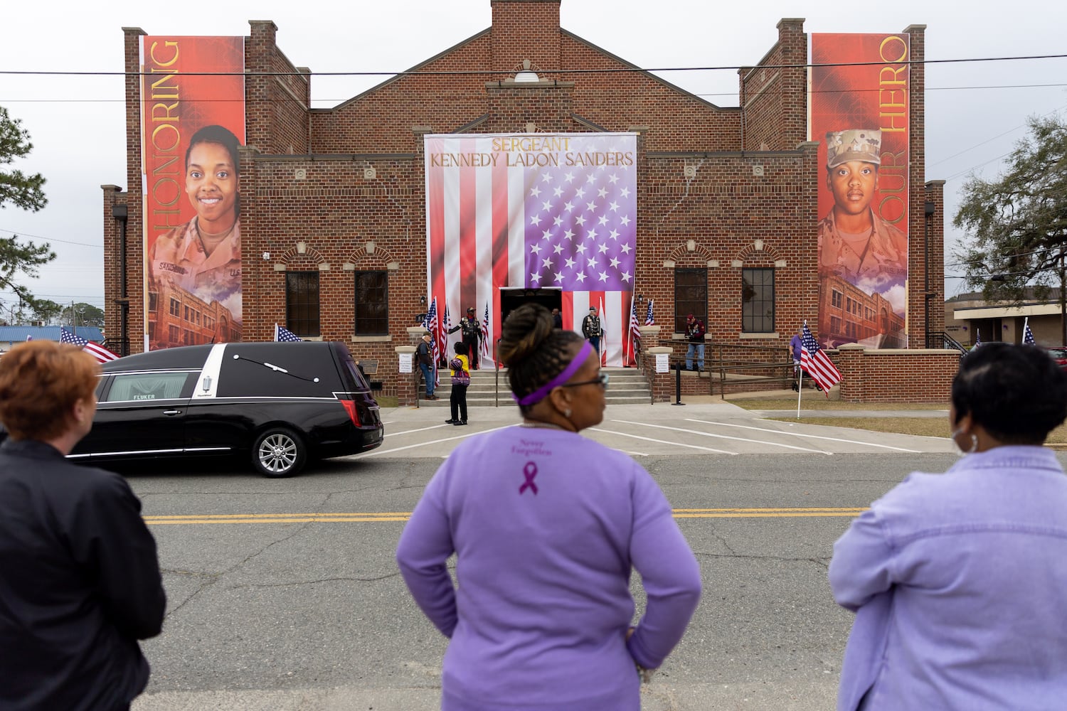
[{"label": "woman in purple sweatshirt with ribbon print and purple headband", "polygon": [[[499,349],[523,423],[457,447],[397,548],[415,602],[450,639],[441,708],[636,711],[697,607],[697,560],[649,472],[578,434],[604,418],[592,345],[527,304]],[[631,568],[648,596],[635,627]]]}]

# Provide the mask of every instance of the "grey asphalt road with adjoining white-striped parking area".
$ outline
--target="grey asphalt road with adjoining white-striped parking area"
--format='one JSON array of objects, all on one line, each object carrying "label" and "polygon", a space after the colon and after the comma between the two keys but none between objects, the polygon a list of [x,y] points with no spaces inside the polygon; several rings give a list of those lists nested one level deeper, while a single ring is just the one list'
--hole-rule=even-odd
[{"label": "grey asphalt road with adjoining white-striped parking area", "polygon": [[[445,640],[393,553],[453,438],[514,419],[485,408],[460,429],[429,409],[386,413],[382,448],[296,479],[202,463],[124,472],[170,598],[136,711],[437,708]],[[851,624],[826,582],[833,540],[908,471],[955,456],[942,439],[735,410],[614,408],[589,433],[653,473],[703,569],[700,608],[643,708],[832,708]]]}]

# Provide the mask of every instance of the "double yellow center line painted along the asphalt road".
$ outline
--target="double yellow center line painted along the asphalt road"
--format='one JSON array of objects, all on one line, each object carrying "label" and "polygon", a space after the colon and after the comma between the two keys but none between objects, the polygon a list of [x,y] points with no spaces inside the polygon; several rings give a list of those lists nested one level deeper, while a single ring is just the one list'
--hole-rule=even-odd
[{"label": "double yellow center line painted along the asphalt road", "polygon": [[[818,518],[859,516],[863,508],[674,508],[674,518]],[[145,516],[148,526],[203,526],[208,523],[366,523],[407,521],[411,512],[370,514],[190,514]]]}]

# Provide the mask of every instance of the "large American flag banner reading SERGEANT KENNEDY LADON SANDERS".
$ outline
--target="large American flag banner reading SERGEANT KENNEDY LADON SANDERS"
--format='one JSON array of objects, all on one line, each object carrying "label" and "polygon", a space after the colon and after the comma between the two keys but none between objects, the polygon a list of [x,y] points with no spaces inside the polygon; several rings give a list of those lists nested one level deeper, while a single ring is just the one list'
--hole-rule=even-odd
[{"label": "large American flag banner reading SERGEANT KENNEDY LADON SANDERS", "polygon": [[636,134],[427,135],[425,149],[429,296],[453,312],[491,305],[490,342],[500,289],[559,289],[564,328],[580,333],[589,307],[603,305],[604,361],[624,365]]}]

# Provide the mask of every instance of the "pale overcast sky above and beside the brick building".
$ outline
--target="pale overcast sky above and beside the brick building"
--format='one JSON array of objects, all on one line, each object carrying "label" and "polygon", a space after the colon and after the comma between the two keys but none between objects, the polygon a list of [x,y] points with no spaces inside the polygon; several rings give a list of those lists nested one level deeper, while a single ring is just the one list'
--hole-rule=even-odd
[{"label": "pale overcast sky above and beside the brick building", "polygon": [[[176,9],[181,12],[176,12]],[[308,9],[314,9],[305,14]],[[717,3],[707,0],[562,0],[570,32],[644,68],[736,67],[758,62],[776,42],[783,17],[806,18],[805,31],[899,32],[926,25],[926,59],[961,60],[1067,53],[1067,3],[1017,0],[825,0]],[[5,3],[0,71],[122,72],[123,27],[148,34],[246,35],[250,19],[277,25],[277,43],[314,71],[400,71],[488,28],[490,0],[170,5],[158,2]],[[659,72],[722,107],[737,106],[734,69]],[[331,107],[381,82],[315,78],[316,107]],[[0,106],[22,120],[34,145],[18,163],[45,175],[48,207],[0,210],[0,236],[47,240],[59,258],[25,282],[38,296],[69,304],[103,303],[101,193],[127,188],[121,76],[0,74]],[[1025,135],[1028,116],[1067,115],[1067,60],[930,64],[926,72],[926,179],[947,180],[946,252],[958,191],[971,172],[996,177]],[[947,262],[953,261],[951,257]],[[946,264],[947,275],[960,274]],[[947,279],[946,296],[960,291]],[[12,294],[0,292],[3,307]]]}]

